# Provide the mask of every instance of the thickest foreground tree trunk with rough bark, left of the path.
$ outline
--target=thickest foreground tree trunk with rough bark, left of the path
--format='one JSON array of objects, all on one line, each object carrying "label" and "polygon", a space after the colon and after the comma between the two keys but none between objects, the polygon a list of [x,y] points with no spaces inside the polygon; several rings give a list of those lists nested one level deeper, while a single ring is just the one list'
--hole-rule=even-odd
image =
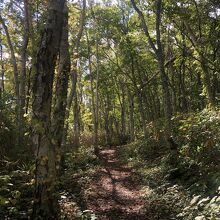
[{"label": "thickest foreground tree trunk with rough bark, left of the path", "polygon": [[35,200],[32,219],[58,219],[55,197],[55,149],[51,143],[51,102],[54,70],[63,25],[65,0],[50,0],[46,26],[36,58],[32,126],[36,148]]}]

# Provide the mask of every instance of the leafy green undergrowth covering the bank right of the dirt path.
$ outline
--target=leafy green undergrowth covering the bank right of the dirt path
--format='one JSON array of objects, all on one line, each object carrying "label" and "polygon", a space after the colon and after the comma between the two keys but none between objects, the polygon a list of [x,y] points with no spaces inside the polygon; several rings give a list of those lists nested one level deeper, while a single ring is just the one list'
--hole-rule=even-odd
[{"label": "leafy green undergrowth covering the bank right of the dirt path", "polygon": [[175,166],[164,139],[158,138],[162,126],[149,125],[149,137],[126,145],[119,156],[141,181],[152,219],[219,219],[220,113],[206,109],[172,120]]}]

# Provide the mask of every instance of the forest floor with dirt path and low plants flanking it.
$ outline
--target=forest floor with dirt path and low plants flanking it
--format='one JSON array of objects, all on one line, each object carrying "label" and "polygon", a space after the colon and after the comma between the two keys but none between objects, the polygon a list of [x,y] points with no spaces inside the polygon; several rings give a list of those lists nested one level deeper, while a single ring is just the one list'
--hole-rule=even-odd
[{"label": "forest floor with dirt path and low plants flanking it", "polygon": [[92,158],[82,147],[70,157],[61,179],[63,219],[220,219],[220,191],[207,191],[210,178],[197,166],[183,160],[179,168],[169,167],[162,151],[135,159],[135,149],[134,144],[104,148]]}]

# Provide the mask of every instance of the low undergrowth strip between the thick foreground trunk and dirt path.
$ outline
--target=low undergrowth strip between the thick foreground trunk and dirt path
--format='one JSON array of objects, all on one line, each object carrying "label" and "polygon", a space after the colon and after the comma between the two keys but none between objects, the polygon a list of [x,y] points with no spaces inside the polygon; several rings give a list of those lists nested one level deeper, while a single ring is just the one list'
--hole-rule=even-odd
[{"label": "low undergrowth strip between the thick foreground trunk and dirt path", "polygon": [[86,209],[89,184],[99,168],[93,146],[81,146],[65,155],[60,179],[62,219],[95,219]]}]

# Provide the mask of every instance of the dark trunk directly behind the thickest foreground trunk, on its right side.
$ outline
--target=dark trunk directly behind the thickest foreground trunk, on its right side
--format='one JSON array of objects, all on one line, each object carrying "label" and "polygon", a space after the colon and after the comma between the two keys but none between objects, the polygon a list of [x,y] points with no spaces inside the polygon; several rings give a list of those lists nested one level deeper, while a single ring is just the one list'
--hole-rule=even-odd
[{"label": "dark trunk directly behind the thickest foreground trunk, on its right side", "polygon": [[[56,150],[56,164],[59,167],[60,160],[63,162],[63,151],[61,144],[65,122],[67,89],[70,74],[70,54],[68,42],[68,9],[64,10],[63,32],[59,51],[59,65],[57,70],[57,81],[55,91],[55,105],[52,117],[52,143]],[[62,164],[61,164],[62,165]]]}]

